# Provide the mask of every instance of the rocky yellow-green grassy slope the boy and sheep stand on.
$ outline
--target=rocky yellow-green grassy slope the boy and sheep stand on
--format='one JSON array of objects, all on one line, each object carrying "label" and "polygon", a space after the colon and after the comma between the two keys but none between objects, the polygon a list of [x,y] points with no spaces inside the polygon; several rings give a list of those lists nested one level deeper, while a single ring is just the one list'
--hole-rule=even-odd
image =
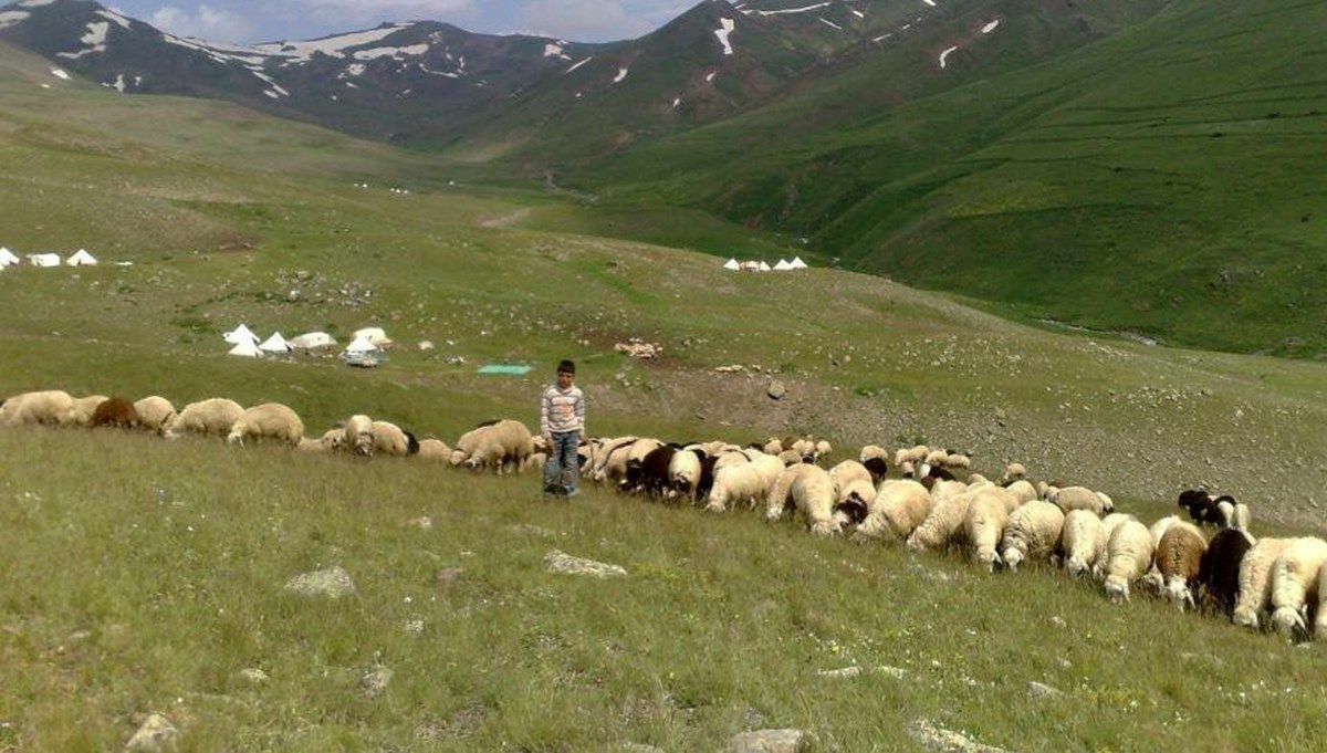
[{"label": "rocky yellow-green grassy slope the boy and sheep stand on", "polygon": [[[752,253],[780,239],[475,187],[442,159],[252,111],[66,85],[5,48],[0,151],[0,244],[102,260],[0,272],[0,395],[280,400],[311,435],[369,412],[453,441],[494,416],[532,423],[571,357],[594,434],[815,432],[833,460],[926,441],[986,473],[1019,460],[1103,489],[1145,520],[1206,484],[1249,502],[1259,533],[1322,533],[1312,362],[1028,327],[825,268],[733,274],[587,231]],[[242,321],[342,338],[381,325],[398,347],[374,370],[226,357],[220,333]],[[664,357],[614,353],[629,337]],[[486,362],[535,371],[480,376]],[[715,371],[731,365],[746,371]],[[1318,750],[1327,736],[1316,644],[1144,597],[1112,607],[1052,571],[989,577],[596,489],[556,506],[535,484],[0,431],[0,748],[122,748],[150,712],[180,750],[709,750],[774,726],[900,750],[918,720],[1007,750]],[[629,575],[549,574],[551,549]],[[330,566],[358,595],[281,590]],[[1064,695],[1030,697],[1032,681]]]}]

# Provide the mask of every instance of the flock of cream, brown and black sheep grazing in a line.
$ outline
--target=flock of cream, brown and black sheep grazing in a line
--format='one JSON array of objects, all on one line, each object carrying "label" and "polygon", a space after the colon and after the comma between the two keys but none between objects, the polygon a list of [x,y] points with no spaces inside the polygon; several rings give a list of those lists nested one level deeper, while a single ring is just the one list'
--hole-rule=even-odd
[{"label": "flock of cream, brown and black sheep grazing in a line", "polygon": [[[354,415],[318,437],[280,403],[244,408],[226,398],[178,412],[161,396],[137,402],[60,390],[24,392],[0,403],[0,427],[21,424],[142,428],[174,439],[186,434],[230,443],[277,441],[301,451],[410,456],[496,473],[539,469],[541,437],[519,420],[488,422],[455,447],[417,440],[389,422]],[[824,468],[828,441],[771,439],[739,447],[626,436],[594,437],[580,448],[585,479],[622,493],[690,501],[707,510],[759,508],[770,521],[794,516],[812,533],[884,541],[910,550],[957,549],[989,570],[1030,561],[1099,581],[1112,601],[1140,583],[1181,610],[1206,608],[1250,628],[1307,639],[1327,634],[1327,541],[1254,538],[1249,509],[1229,496],[1185,491],[1180,508],[1151,526],[1115,512],[1112,500],[1084,487],[1032,483],[1019,463],[991,481],[969,456],[925,445],[888,452],[867,445],[859,459]],[[959,480],[955,475],[963,475]],[[1208,538],[1201,526],[1218,530]]]}]

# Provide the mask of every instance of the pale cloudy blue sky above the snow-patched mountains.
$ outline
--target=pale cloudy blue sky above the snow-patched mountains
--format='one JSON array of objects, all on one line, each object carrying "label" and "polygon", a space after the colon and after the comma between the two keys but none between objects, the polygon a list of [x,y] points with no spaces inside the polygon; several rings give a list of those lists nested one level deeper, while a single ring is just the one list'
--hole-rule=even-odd
[{"label": "pale cloudy blue sky above the snow-patched mountains", "polygon": [[[101,0],[176,36],[253,44],[311,40],[384,21],[446,21],[470,32],[577,42],[636,38],[701,0]],[[0,3],[3,4],[3,3]]]}]

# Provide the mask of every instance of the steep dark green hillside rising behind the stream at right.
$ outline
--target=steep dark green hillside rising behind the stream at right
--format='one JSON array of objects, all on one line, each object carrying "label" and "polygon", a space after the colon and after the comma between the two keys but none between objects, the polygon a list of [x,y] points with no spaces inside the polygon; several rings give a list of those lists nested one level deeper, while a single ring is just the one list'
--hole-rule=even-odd
[{"label": "steep dark green hillside rising behind the stream at right", "polygon": [[[1010,12],[945,70],[884,53],[581,179],[807,235],[1028,319],[1315,358],[1323,13],[1180,1],[1019,65],[1039,20]],[[904,65],[910,89],[868,93]],[[947,76],[967,84],[928,91]]]}]

